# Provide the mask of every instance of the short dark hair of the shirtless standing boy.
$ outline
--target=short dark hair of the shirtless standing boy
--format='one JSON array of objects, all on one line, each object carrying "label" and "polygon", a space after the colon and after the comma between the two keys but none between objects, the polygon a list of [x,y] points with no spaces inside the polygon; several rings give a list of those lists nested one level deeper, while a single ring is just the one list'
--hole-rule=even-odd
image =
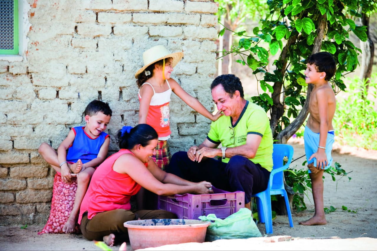
[{"label": "short dark hair of the shirtless standing boy", "polygon": [[333,55],[328,52],[319,52],[310,55],[307,63],[314,64],[318,72],[324,71],[326,73],[326,81],[329,81],[335,74],[336,62]]}]

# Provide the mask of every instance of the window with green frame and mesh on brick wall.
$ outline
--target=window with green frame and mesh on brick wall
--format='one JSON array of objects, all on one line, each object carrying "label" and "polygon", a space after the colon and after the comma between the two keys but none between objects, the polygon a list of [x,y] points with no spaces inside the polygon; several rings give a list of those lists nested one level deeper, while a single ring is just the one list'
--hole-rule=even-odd
[{"label": "window with green frame and mesh on brick wall", "polygon": [[0,0],[0,55],[18,55],[18,0]]}]

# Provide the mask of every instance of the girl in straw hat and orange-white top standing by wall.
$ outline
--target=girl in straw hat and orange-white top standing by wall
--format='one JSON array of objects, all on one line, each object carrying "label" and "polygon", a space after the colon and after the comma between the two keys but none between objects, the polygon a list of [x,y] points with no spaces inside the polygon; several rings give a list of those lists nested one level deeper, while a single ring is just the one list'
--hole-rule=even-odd
[{"label": "girl in straw hat and orange-white top standing by wall", "polygon": [[177,81],[170,78],[173,67],[182,59],[182,52],[170,53],[164,46],[154,46],[143,53],[144,66],[135,74],[139,87],[139,124],[151,125],[158,133],[153,160],[162,170],[170,162],[167,140],[170,138],[169,102],[174,92],[198,113],[215,121],[222,114],[211,114],[197,99],[188,94]]}]

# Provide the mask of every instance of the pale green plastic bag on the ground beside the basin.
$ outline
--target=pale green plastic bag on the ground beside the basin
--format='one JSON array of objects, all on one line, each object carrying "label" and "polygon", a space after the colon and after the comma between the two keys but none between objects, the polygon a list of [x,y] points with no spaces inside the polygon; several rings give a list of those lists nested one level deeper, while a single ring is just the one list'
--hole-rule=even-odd
[{"label": "pale green plastic bag on the ground beside the basin", "polygon": [[199,219],[211,222],[211,225],[207,227],[205,241],[262,237],[248,208],[241,208],[225,219],[219,219],[213,213],[199,216]]}]

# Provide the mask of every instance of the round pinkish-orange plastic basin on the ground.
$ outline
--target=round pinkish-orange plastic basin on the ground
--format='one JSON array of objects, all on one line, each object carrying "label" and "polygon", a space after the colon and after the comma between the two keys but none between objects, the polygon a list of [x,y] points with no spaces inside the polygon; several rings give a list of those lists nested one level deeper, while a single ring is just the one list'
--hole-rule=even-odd
[{"label": "round pinkish-orange plastic basin on the ground", "polygon": [[150,219],[124,222],[133,250],[187,242],[202,243],[211,222],[188,219]]}]

